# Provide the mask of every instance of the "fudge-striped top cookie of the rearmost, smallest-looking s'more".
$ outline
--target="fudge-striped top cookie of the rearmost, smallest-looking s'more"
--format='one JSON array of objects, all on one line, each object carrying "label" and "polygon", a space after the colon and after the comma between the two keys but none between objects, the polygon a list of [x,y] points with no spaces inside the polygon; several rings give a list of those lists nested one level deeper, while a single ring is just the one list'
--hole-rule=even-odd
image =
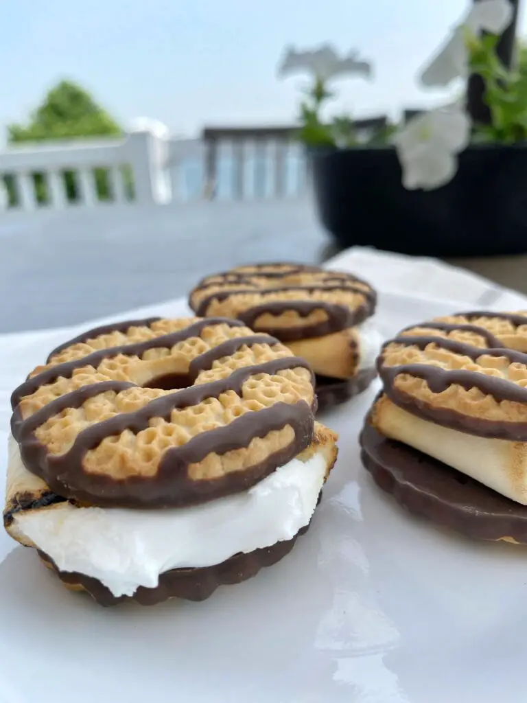
[{"label": "fudge-striped top cookie of the rearmost, smallest-looking s'more", "polygon": [[226,315],[282,342],[322,337],[375,312],[372,287],[351,273],[301,264],[239,266],[204,278],[189,296],[197,315]]}]

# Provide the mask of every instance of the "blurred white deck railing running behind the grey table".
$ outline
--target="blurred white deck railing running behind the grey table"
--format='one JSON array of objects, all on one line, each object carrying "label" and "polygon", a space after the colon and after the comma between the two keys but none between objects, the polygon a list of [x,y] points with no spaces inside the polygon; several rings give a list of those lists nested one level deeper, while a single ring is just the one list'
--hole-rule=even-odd
[{"label": "blurred white deck railing running behind the grey table", "polygon": [[1,217],[198,198],[294,198],[305,192],[304,154],[289,138],[215,142],[214,178],[208,147],[153,128],[123,138],[9,146],[0,151]]}]

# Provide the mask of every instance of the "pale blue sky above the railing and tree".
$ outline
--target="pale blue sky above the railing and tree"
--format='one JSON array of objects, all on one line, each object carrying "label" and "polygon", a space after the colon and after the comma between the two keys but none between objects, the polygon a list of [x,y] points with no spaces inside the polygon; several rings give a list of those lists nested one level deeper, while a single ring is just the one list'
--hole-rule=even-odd
[{"label": "pale blue sky above the railing and tree", "polygon": [[[375,64],[342,82],[336,110],[374,115],[429,104],[417,67],[465,0],[16,0],[0,6],[0,140],[46,89],[75,79],[126,126],[155,117],[175,132],[204,124],[294,120],[301,77],[279,81],[285,44],[332,41]],[[526,17],[520,32],[527,33]]]}]

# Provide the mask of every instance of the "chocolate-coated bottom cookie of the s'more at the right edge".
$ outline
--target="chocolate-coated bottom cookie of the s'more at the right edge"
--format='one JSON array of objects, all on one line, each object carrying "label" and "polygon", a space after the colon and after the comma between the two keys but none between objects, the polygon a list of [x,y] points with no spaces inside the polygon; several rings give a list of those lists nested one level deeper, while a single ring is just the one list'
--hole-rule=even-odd
[{"label": "chocolate-coated bottom cookie of the s'more at the right edge", "polygon": [[527,543],[527,507],[402,442],[366,420],[361,458],[375,482],[404,508],[477,539]]}]

